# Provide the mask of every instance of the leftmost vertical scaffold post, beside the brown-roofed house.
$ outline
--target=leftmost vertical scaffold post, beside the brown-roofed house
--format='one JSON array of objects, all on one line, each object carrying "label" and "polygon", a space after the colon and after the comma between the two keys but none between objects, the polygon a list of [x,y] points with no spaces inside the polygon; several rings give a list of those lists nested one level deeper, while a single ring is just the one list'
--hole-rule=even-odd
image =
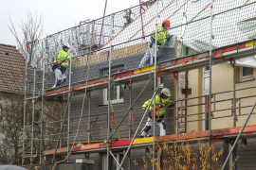
[{"label": "leftmost vertical scaffold post, beside the brown-roofed house", "polygon": [[22,138],[22,164],[25,160],[25,135],[26,135],[26,105],[27,105],[27,56],[29,55],[29,43],[27,43],[27,55],[25,59],[25,83],[24,83],[24,110],[23,110],[23,138]]}]

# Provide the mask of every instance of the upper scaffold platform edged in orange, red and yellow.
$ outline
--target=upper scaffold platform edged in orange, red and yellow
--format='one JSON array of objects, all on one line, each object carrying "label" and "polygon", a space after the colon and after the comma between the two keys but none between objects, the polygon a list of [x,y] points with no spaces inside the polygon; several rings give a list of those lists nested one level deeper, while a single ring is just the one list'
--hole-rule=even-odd
[{"label": "upper scaffold platform edged in orange, red and yellow", "polygon": [[[213,51],[214,64],[229,61],[230,59],[237,59],[239,53],[239,59],[246,58],[253,55],[253,41],[241,42],[225,46]],[[170,59],[158,63],[157,74],[170,74],[177,72],[184,72],[199,67],[205,67],[209,65],[209,52],[204,52],[196,55],[190,55],[182,58]],[[115,83],[120,84],[123,82],[137,82],[143,79],[148,79],[149,74],[154,74],[155,66],[150,65],[135,70],[130,70],[122,73],[114,74]],[[99,90],[108,86],[108,76],[102,76],[99,78],[91,79],[87,81],[74,83],[71,91],[74,93],[83,93],[83,89],[87,88],[88,91]],[[58,96],[63,93],[69,93],[68,85],[58,87],[54,89],[46,90],[46,97]]]}]

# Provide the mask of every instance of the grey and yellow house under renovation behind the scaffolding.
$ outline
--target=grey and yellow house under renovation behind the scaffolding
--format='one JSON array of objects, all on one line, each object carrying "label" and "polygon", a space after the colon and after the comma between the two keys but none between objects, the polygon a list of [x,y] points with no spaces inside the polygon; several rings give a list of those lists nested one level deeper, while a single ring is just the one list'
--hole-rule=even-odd
[{"label": "grey and yellow house under renovation behind the scaffolding", "polygon": [[[181,148],[186,143],[192,148],[195,159],[190,163],[187,162],[190,159],[187,159],[187,165],[203,169],[200,164],[202,150],[194,146],[211,144],[215,151],[223,149],[221,154],[217,154],[217,159],[211,160],[214,164],[212,168],[220,167],[230,151],[231,159],[226,169],[232,166],[232,162],[236,169],[254,168],[254,153],[250,150],[255,147],[255,115],[249,119],[234,150],[231,147],[255,103],[255,69],[246,67],[245,61],[255,56],[255,41],[252,40],[255,32],[251,29],[255,22],[252,17],[255,4],[226,1],[223,5],[214,2],[214,36],[210,36],[210,12],[206,10],[210,9],[210,1],[177,1],[175,6],[173,3],[167,0],[159,6],[160,19],[171,18],[174,21],[174,28],[169,30],[174,35],[174,45],[157,51],[156,68],[154,65],[137,68],[148,45],[145,40],[150,39],[150,32],[155,26],[151,23],[155,19],[154,4],[143,13],[145,40],[141,35],[143,30],[138,15],[119,32],[110,31],[115,33],[113,39],[105,42],[101,50],[91,53],[87,51],[71,62],[70,86],[45,89],[45,98],[57,101],[62,97],[67,104],[70,101],[70,108],[63,109],[62,120],[67,121],[59,127],[61,133],[44,132],[46,140],[58,142],[57,147],[46,148],[41,153],[41,159],[43,156],[49,160],[54,157],[65,158],[71,149],[68,161],[86,159],[93,162],[94,169],[108,169],[107,164],[113,169],[119,169],[119,163],[122,162],[123,169],[141,169],[146,164],[151,165],[152,155],[150,158],[147,155],[152,148],[155,149],[153,145],[156,142],[159,144],[156,149],[158,151],[165,146],[171,148],[171,151],[154,154],[157,164],[165,169],[172,166],[172,162],[177,162],[169,158],[172,149]],[[187,8],[183,8],[185,5],[188,5]],[[230,17],[235,12],[239,13],[239,17]],[[112,16],[108,16],[107,21],[111,21]],[[115,23],[121,23],[121,17],[115,16]],[[184,24],[185,20],[190,22]],[[101,26],[95,25],[98,22],[101,19],[84,27],[96,26],[95,29],[99,30]],[[245,26],[249,29],[244,30]],[[109,25],[103,27],[109,28]],[[82,29],[79,26],[73,27],[69,30],[70,34],[65,32],[64,35],[71,35],[76,28]],[[59,37],[49,37],[49,44]],[[152,82],[154,74],[157,76],[156,85],[171,89],[175,107],[168,108],[165,114],[166,136],[158,136],[158,128],[155,127],[155,137],[140,139],[139,131],[146,123],[141,106],[155,92]],[[146,149],[148,146],[149,150]],[[111,156],[108,156],[109,153]],[[166,158],[169,160],[164,160]],[[180,162],[186,165],[184,160]]]}]

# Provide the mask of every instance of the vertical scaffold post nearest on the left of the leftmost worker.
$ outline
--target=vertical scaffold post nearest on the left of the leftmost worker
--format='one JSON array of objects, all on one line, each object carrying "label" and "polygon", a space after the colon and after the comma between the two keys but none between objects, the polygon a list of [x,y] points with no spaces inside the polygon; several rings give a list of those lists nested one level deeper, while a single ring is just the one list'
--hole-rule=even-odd
[{"label": "vertical scaffold post nearest on the left of the leftmost worker", "polygon": [[43,127],[44,127],[44,95],[45,95],[45,78],[46,78],[46,55],[43,59],[43,78],[42,78],[42,109],[41,109],[41,136],[40,136],[40,164],[42,164],[43,157]]}]

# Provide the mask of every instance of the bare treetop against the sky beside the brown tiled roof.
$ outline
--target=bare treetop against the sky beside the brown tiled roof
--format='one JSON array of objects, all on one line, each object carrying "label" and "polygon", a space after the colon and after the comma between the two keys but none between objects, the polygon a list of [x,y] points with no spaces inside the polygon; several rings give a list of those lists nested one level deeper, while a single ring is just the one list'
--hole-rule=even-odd
[{"label": "bare treetop against the sky beside the brown tiled roof", "polygon": [[[21,21],[19,28],[22,32],[22,37],[17,33],[19,30],[13,25],[9,17],[9,30],[15,37],[17,48],[19,52],[26,58],[27,55],[27,42],[32,42],[39,39],[43,34],[43,19],[42,16],[38,17],[37,14],[33,16],[30,11],[27,11],[27,21]],[[30,64],[32,60],[33,45],[29,46],[29,55],[27,63]]]}]

